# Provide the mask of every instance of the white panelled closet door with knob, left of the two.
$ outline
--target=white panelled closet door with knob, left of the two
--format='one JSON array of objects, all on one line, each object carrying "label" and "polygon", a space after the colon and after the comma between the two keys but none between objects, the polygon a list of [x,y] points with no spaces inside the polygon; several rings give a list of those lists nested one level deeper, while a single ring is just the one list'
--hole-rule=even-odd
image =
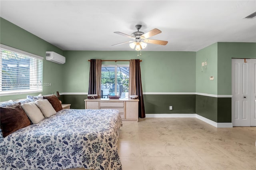
[{"label": "white panelled closet door with knob, left of the two", "polygon": [[250,59],[232,59],[232,123],[233,126],[250,126],[251,69]]}]

